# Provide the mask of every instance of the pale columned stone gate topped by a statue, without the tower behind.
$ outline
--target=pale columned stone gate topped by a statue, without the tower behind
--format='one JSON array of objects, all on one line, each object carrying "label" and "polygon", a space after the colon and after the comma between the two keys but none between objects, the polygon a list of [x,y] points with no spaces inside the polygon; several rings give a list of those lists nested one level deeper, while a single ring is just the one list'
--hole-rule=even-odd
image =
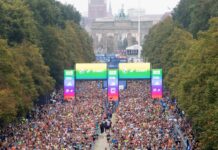
[{"label": "pale columned stone gate topped by a statue, without the tower behind", "polygon": [[[140,41],[148,35],[155,20],[142,18]],[[138,18],[129,18],[120,13],[116,17],[96,19],[91,25],[95,53],[113,53],[138,44]]]}]

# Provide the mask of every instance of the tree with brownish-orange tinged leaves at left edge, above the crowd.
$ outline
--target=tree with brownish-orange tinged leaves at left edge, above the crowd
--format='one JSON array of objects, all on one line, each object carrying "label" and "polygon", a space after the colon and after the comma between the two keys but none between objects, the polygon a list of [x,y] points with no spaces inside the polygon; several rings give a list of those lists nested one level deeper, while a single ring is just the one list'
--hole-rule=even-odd
[{"label": "tree with brownish-orange tinged leaves at left edge, above the crowd", "polygon": [[15,118],[20,108],[22,112],[30,109],[37,96],[51,91],[54,80],[39,49],[31,43],[10,47],[0,40],[0,54],[0,118],[6,117],[4,124]]}]

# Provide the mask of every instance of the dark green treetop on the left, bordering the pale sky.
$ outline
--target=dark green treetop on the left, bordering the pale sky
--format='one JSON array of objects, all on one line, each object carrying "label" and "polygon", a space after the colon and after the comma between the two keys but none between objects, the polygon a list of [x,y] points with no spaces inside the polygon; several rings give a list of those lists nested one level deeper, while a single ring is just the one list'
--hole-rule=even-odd
[{"label": "dark green treetop on the left, bordering the pale sky", "polygon": [[64,27],[65,21],[80,23],[80,14],[72,5],[63,5],[55,0],[25,0],[40,25]]}]

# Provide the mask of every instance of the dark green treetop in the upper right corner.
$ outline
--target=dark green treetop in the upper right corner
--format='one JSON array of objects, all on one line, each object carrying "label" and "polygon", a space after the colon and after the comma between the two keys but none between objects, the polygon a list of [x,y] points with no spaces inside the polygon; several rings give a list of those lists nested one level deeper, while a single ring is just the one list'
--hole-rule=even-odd
[{"label": "dark green treetop in the upper right corner", "polygon": [[190,31],[195,38],[199,31],[207,30],[208,21],[217,16],[217,0],[181,0],[173,13],[174,21]]}]

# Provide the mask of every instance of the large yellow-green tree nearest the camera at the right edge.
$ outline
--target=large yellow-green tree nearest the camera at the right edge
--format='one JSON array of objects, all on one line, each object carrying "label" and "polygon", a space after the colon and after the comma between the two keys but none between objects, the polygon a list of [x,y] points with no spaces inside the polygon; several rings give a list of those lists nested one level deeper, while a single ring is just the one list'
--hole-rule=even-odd
[{"label": "large yellow-green tree nearest the camera at the right edge", "polygon": [[218,92],[215,89],[218,89],[218,18],[212,18],[209,24],[208,31],[198,33],[198,41],[184,61],[184,68],[190,66],[192,72],[181,69],[186,81],[181,84],[183,90],[179,97],[180,105],[193,121],[202,149],[217,149]]}]

